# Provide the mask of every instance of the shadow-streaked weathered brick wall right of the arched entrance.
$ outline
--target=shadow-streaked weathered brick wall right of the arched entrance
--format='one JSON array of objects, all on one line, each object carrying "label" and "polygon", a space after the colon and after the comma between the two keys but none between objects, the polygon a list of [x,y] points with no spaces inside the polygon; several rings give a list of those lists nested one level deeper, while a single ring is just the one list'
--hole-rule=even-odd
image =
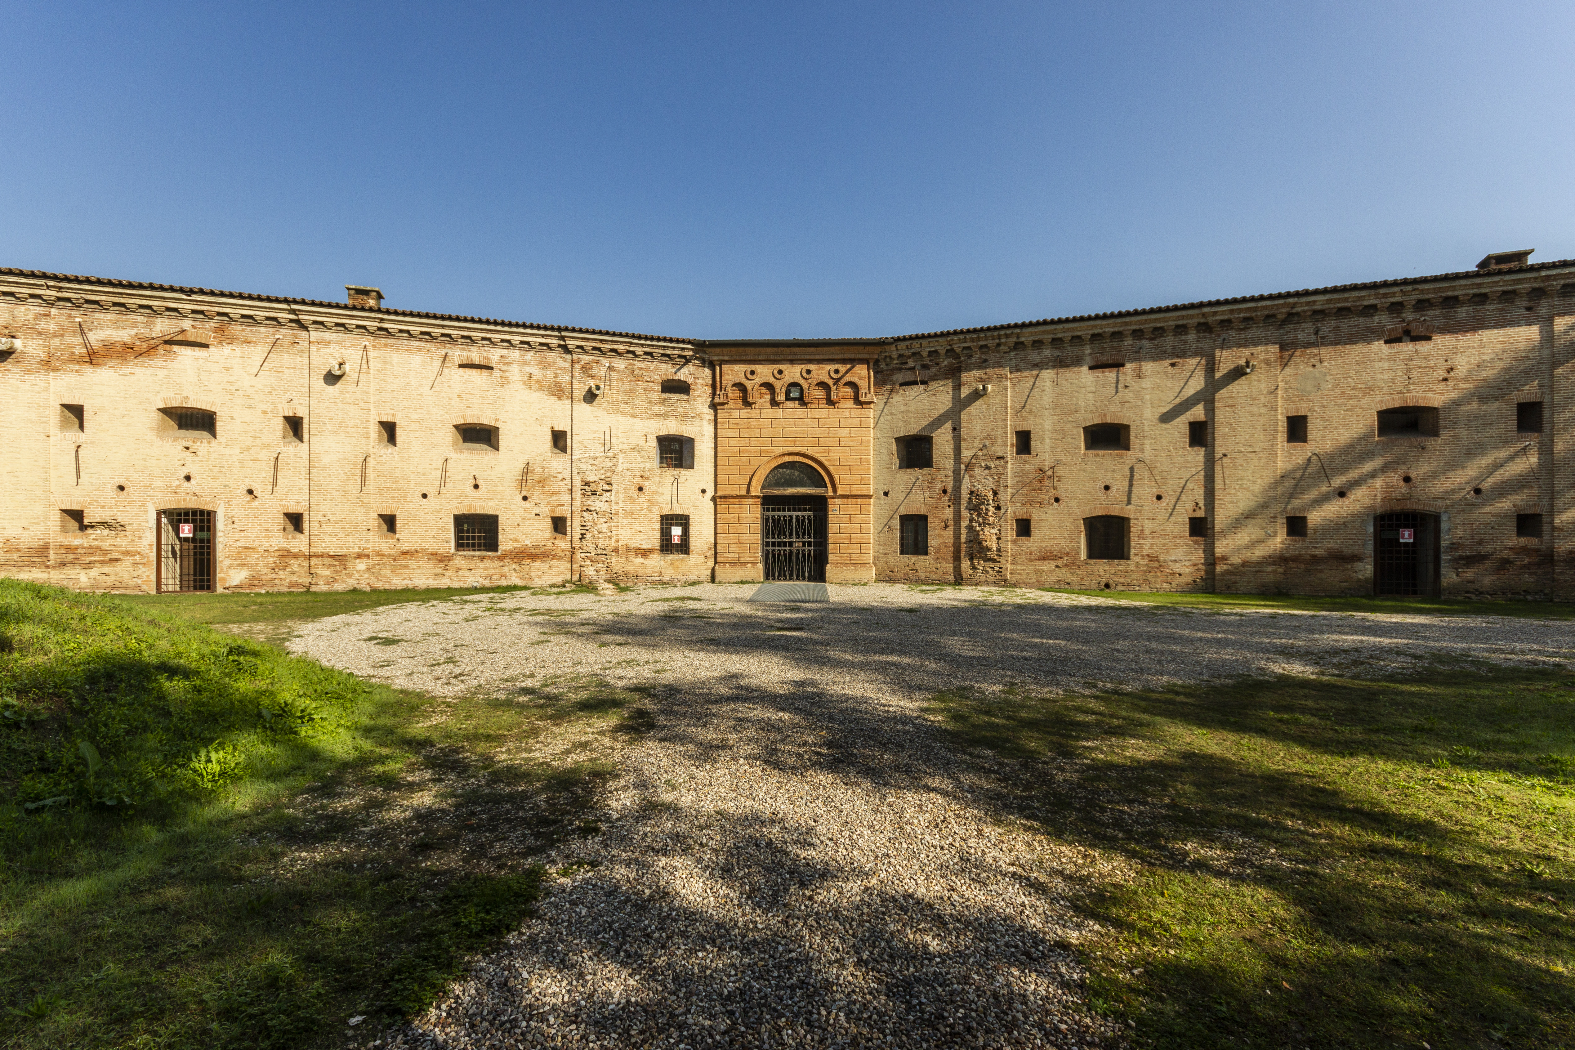
[{"label": "shadow-streaked weathered brick wall right of the arched entrance", "polygon": [[[901,340],[877,365],[877,576],[1369,593],[1373,515],[1422,510],[1441,518],[1446,595],[1569,597],[1555,567],[1570,513],[1558,479],[1570,468],[1572,293],[1567,269],[1487,271]],[[1424,318],[1430,340],[1383,342]],[[928,384],[899,386],[915,368]],[[1515,430],[1529,400],[1545,405],[1540,434]],[[1380,439],[1378,409],[1399,405],[1436,406],[1440,434]],[[1306,444],[1287,442],[1287,416],[1309,417]],[[1208,422],[1208,449],[1188,446],[1191,420]],[[1098,422],[1129,425],[1131,449],[1084,450]],[[1016,455],[1017,430],[1032,453]],[[936,466],[898,469],[896,441],[920,433]],[[997,499],[1002,554],[981,557],[980,526],[994,538],[981,508]],[[898,553],[907,513],[929,516],[928,556]],[[1544,537],[1517,538],[1517,513],[1542,513]],[[1084,557],[1091,515],[1129,518],[1129,560]],[[1287,535],[1290,515],[1307,516],[1306,538]],[[1189,516],[1208,518],[1206,538],[1188,535]],[[1030,537],[1014,535],[1017,518]]]}]

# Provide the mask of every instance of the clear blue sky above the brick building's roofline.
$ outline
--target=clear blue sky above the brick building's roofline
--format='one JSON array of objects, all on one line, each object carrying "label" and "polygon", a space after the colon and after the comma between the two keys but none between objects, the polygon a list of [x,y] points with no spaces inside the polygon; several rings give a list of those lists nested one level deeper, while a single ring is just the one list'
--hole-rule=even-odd
[{"label": "clear blue sky above the brick building's roofline", "polygon": [[0,264],[688,337],[1575,257],[1575,5],[0,3]]}]

